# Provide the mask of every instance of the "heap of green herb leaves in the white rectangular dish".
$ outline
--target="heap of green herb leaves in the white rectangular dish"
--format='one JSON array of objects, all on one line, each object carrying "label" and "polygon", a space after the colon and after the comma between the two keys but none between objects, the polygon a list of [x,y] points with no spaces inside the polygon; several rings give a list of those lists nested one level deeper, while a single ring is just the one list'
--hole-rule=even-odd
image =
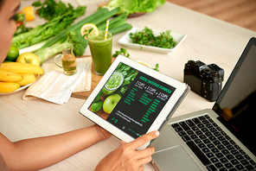
[{"label": "heap of green herb leaves in the white rectangular dish", "polygon": [[144,27],[140,32],[136,32],[135,34],[130,33],[130,38],[132,43],[145,46],[158,48],[174,48],[176,46],[176,41],[174,41],[173,37],[170,35],[170,30],[155,36],[152,29]]}]

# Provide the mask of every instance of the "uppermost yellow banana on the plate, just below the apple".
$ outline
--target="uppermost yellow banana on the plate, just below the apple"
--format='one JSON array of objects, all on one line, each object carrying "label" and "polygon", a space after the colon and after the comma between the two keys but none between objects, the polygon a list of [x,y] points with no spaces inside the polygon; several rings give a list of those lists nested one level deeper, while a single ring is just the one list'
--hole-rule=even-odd
[{"label": "uppermost yellow banana on the plate, just below the apple", "polygon": [[37,73],[39,75],[43,74],[43,69],[41,66],[35,66],[29,63],[5,62],[2,63],[0,69],[13,73]]}]

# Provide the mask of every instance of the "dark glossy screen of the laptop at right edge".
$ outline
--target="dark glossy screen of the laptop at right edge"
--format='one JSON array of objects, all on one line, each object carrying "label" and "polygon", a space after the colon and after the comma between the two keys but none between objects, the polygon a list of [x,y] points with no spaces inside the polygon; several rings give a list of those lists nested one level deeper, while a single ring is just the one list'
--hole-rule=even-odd
[{"label": "dark glossy screen of the laptop at right edge", "polygon": [[256,39],[241,54],[213,110],[229,130],[256,155]]}]

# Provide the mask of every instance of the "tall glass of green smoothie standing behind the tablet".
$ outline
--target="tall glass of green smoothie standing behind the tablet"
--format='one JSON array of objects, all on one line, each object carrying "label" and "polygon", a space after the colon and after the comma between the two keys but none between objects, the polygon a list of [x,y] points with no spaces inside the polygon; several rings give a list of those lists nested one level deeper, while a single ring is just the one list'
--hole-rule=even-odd
[{"label": "tall glass of green smoothie standing behind the tablet", "polygon": [[112,64],[112,33],[99,30],[99,35],[88,35],[87,41],[93,58],[93,66],[97,75],[104,75]]}]

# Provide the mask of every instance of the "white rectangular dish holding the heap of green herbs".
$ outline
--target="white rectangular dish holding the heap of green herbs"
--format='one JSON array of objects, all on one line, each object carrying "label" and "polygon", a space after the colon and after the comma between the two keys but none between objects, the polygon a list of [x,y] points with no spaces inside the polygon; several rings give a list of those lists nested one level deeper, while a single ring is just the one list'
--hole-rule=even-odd
[{"label": "white rectangular dish holding the heap of green herbs", "polygon": [[[128,48],[141,49],[141,47],[142,47],[142,50],[167,54],[167,53],[175,51],[176,48],[178,48],[180,46],[182,41],[184,41],[184,39],[187,37],[187,35],[185,35],[185,34],[178,34],[178,33],[170,32],[170,35],[176,41],[175,48],[157,48],[157,47],[151,47],[151,46],[145,46],[145,45],[132,43],[131,38],[130,38],[130,33],[134,34],[136,32],[142,31],[143,29],[144,28],[131,28],[131,30],[129,30],[123,37],[121,37],[118,40],[118,43],[125,45],[125,47],[128,47]],[[153,31],[153,34],[156,36],[160,35],[160,33],[163,32],[163,31],[157,31],[157,30],[152,30],[152,31]]]}]

